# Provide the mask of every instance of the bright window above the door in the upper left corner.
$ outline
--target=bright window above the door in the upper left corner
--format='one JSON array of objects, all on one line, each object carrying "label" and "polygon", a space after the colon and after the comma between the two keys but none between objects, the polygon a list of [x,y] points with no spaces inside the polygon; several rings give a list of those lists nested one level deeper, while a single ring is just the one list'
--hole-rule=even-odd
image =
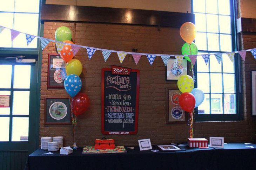
[{"label": "bright window above the door in the upper left corner", "polygon": [[[38,35],[38,19],[39,0],[1,0],[1,26]],[[9,29],[2,31],[0,40],[0,48],[37,48],[37,38],[27,46],[25,34],[18,35],[12,42]]]}]

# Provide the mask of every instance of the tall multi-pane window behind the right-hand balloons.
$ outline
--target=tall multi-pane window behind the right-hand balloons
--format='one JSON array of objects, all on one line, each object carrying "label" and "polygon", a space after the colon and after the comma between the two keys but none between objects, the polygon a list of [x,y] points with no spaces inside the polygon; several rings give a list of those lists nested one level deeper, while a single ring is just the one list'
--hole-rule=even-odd
[{"label": "tall multi-pane window behind the right-hand balloons", "polygon": [[[216,54],[236,50],[235,17],[233,0],[193,0],[193,12],[197,36],[195,44],[198,54]],[[206,65],[204,59],[197,57],[197,87],[205,94],[198,107],[196,119],[237,120],[238,109],[238,57],[231,62],[223,54],[219,64],[214,55]],[[227,119],[225,119],[227,118]]]}]

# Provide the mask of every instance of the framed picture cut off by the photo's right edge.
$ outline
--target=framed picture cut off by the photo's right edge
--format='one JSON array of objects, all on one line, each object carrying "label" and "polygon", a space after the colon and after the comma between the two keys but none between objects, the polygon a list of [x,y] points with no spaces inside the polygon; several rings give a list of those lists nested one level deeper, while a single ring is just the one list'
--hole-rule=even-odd
[{"label": "framed picture cut off by the photo's right edge", "polygon": [[251,71],[251,116],[256,116],[256,71]]}]

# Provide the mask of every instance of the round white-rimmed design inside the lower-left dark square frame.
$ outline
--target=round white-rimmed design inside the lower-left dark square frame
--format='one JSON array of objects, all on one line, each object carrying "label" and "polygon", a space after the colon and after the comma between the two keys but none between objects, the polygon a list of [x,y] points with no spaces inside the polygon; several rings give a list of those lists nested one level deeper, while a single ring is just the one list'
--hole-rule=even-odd
[{"label": "round white-rimmed design inside the lower-left dark square frame", "polygon": [[61,120],[65,118],[67,112],[67,106],[60,101],[54,102],[49,108],[50,116],[56,120]]}]

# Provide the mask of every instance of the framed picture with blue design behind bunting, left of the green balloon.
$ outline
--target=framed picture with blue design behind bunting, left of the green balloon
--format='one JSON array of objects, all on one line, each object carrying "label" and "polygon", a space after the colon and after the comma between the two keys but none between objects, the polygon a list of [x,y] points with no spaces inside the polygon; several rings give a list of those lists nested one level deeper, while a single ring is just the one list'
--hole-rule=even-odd
[{"label": "framed picture with blue design behind bunting, left of the green balloon", "polygon": [[178,65],[175,58],[169,58],[166,67],[166,81],[176,81],[180,76],[187,74],[187,60],[185,58],[182,60],[181,65]]}]

